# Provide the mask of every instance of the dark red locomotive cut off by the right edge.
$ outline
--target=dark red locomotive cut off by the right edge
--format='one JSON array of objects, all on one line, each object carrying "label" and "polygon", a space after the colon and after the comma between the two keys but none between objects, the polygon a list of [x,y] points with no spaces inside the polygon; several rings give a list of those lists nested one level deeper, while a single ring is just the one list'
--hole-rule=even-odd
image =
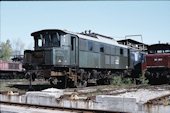
[{"label": "dark red locomotive cut off by the right edge", "polygon": [[154,44],[148,47],[145,76],[150,84],[170,83],[169,44]]}]

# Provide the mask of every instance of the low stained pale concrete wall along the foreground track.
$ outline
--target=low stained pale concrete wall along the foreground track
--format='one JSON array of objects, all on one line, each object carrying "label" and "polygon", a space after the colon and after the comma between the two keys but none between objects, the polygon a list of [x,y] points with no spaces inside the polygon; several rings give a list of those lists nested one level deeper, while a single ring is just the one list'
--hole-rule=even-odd
[{"label": "low stained pale concrete wall along the foreground track", "polygon": [[170,106],[164,105],[145,105],[136,103],[135,98],[122,98],[109,95],[96,96],[96,100],[66,100],[59,99],[55,96],[49,95],[22,95],[22,96],[7,96],[0,94],[0,101],[79,108],[79,109],[94,109],[118,112],[131,112],[131,113],[170,113]]}]

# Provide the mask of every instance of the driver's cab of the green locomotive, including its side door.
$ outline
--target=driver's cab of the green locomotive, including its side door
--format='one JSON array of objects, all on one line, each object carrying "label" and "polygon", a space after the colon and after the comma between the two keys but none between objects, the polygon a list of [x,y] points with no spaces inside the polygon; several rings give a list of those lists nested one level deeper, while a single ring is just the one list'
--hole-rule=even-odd
[{"label": "driver's cab of the green locomotive, including its side door", "polygon": [[[34,51],[25,51],[25,58],[32,54],[32,58],[25,59],[27,63],[70,66],[77,65],[76,50],[78,38],[62,31],[39,31],[31,34],[34,37]],[[69,57],[75,57],[70,61]],[[35,61],[29,61],[35,58]],[[41,59],[41,61],[39,61]]]}]

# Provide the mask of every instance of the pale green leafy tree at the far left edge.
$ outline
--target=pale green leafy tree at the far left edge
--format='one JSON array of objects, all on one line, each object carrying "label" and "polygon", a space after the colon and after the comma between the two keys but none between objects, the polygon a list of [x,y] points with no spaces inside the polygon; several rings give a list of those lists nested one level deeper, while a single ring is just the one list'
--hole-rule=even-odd
[{"label": "pale green leafy tree at the far left edge", "polygon": [[3,61],[10,61],[10,57],[12,56],[12,48],[10,44],[10,40],[7,40],[6,43],[2,43],[2,55],[0,57],[0,60]]}]

